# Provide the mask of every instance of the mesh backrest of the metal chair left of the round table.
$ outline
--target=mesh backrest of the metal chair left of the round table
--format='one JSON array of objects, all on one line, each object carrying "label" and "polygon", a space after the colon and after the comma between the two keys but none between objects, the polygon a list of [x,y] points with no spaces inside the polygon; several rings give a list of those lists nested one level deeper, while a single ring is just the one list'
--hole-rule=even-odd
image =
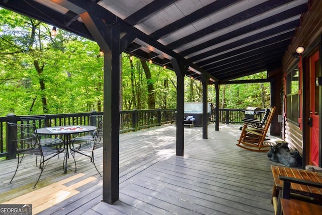
[{"label": "mesh backrest of the metal chair left of the round table", "polygon": [[11,129],[12,142],[17,153],[42,155],[35,124],[7,123]]}]

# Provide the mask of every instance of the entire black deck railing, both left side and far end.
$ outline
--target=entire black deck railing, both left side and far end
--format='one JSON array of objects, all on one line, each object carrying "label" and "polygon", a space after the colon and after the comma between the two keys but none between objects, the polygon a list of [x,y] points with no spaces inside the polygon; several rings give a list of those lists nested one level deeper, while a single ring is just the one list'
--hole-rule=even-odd
[{"label": "entire black deck railing, both left side and far end", "polygon": [[[215,121],[215,110],[212,110],[210,121]],[[103,115],[103,112],[69,113],[69,114],[47,114],[47,126],[60,125],[89,125],[90,115]],[[7,159],[15,157],[14,152],[8,153],[7,122],[21,123],[24,116],[8,114],[0,117],[0,158]],[[28,116],[32,118],[33,116]],[[262,114],[257,115],[259,119]],[[219,122],[221,123],[242,123],[245,118],[245,109],[219,109]],[[176,121],[176,109],[153,109],[153,110],[127,110],[120,111],[120,133],[137,131],[138,129],[174,123]],[[42,123],[36,122],[36,127],[42,127]],[[12,155],[11,155],[12,154]]]}]

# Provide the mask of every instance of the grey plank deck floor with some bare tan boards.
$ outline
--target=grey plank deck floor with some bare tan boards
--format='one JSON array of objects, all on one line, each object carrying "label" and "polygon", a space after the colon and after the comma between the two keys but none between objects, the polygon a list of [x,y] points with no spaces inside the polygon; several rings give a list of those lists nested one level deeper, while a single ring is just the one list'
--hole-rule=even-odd
[{"label": "grey plank deck floor with some bare tan boards", "polygon": [[53,158],[36,189],[33,157],[11,185],[17,161],[0,161],[0,202],[33,204],[34,214],[274,214],[270,166],[279,164],[235,146],[239,126],[214,129],[209,124],[202,139],[202,128],[185,128],[184,157],[175,155],[174,125],[120,134],[120,192],[113,205],[101,201],[102,177],[81,155],[76,173],[68,160],[67,174],[63,159]]}]

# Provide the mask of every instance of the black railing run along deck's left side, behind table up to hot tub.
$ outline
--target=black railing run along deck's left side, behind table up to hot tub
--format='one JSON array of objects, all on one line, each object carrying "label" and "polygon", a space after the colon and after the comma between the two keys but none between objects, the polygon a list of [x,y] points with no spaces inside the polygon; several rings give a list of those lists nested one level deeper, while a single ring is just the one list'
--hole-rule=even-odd
[{"label": "black railing run along deck's left side, behind table up to hot tub", "polygon": [[[176,109],[154,109],[154,110],[129,110],[120,111],[120,133],[127,131],[137,131],[138,129],[159,126],[176,121]],[[47,114],[47,126],[60,125],[90,125],[90,115],[103,115],[103,112],[89,112],[89,113],[68,113],[68,114]],[[15,114],[8,114],[6,117],[0,117],[0,158],[7,159],[14,158],[15,149],[10,150],[11,140],[7,139],[8,128],[7,122],[22,123],[22,119],[26,116],[16,116]],[[32,119],[36,115],[29,115]],[[44,123],[34,120],[36,127],[44,127]],[[29,121],[28,121],[29,122]],[[28,123],[27,122],[27,123]],[[26,123],[26,121],[24,121]],[[93,124],[94,125],[94,124]],[[10,152],[12,151],[12,152]]]}]

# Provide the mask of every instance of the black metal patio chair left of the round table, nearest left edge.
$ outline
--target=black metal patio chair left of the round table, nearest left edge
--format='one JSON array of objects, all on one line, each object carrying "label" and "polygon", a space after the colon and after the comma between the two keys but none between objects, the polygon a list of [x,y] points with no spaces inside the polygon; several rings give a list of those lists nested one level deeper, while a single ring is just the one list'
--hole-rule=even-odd
[{"label": "black metal patio chair left of the round table, nearest left edge", "polygon": [[34,123],[17,124],[8,122],[7,124],[9,126],[9,129],[11,129],[12,144],[15,145],[18,157],[17,168],[9,184],[11,184],[13,179],[15,178],[18,168],[23,162],[25,155],[40,156],[39,168],[41,169],[41,171],[35,185],[33,186],[33,188],[35,188],[49,160],[54,156],[62,153],[64,151],[64,148],[51,148],[41,146]]}]

